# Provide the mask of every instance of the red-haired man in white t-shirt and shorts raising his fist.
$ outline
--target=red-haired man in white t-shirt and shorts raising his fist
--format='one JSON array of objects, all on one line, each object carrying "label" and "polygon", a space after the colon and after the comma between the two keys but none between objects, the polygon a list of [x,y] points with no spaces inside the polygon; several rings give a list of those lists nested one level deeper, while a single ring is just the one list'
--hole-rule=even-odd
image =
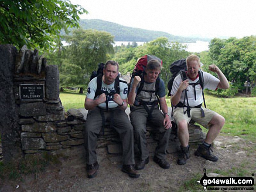
[{"label": "red-haired man in white t-shirt and shorts raising his fist", "polygon": [[[200,59],[198,56],[192,54],[186,59],[187,64],[187,79],[182,81],[181,75],[175,77],[173,86],[171,89],[171,103],[175,106],[173,111],[174,120],[178,126],[178,137],[181,142],[181,153],[179,155],[177,163],[179,165],[184,165],[187,159],[190,157],[189,154],[189,133],[188,133],[188,123],[192,119],[198,124],[205,128],[208,128],[208,133],[206,135],[205,141],[198,146],[195,152],[196,156],[201,156],[207,160],[216,162],[218,158],[211,154],[210,147],[212,142],[219,134],[222,129],[225,118],[211,111],[207,108],[201,108],[203,102],[202,88],[198,84],[195,87],[189,84],[193,84],[198,81],[199,75],[198,71],[200,68]],[[214,77],[212,74],[202,71],[204,78],[204,89],[208,88],[211,90],[216,90],[217,88],[228,89],[229,82],[222,71],[214,64],[209,66],[209,70],[215,72],[218,78]],[[187,90],[188,103],[185,97],[185,90]],[[194,92],[195,91],[195,92]],[[195,95],[196,94],[196,95]],[[196,100],[195,100],[196,96]],[[184,102],[185,101],[185,102]],[[190,107],[190,117],[188,113],[184,114],[184,107]],[[204,117],[202,117],[202,111],[204,112]]]}]

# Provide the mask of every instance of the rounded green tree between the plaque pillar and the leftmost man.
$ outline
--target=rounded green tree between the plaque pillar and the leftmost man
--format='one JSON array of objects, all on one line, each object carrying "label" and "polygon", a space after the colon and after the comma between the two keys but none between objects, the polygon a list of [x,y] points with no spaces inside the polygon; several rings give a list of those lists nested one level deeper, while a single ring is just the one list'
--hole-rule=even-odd
[{"label": "rounded green tree between the plaque pillar and the leftmost man", "polygon": [[48,63],[58,65],[62,87],[85,88],[92,71],[114,53],[113,36],[103,31],[78,29],[65,39],[69,45],[48,54]]}]

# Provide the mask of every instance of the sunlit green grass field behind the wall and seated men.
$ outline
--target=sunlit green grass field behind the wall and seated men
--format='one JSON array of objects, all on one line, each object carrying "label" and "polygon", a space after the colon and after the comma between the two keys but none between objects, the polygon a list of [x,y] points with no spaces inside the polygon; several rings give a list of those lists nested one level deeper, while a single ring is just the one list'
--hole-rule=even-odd
[{"label": "sunlit green grass field behind the wall and seated men", "polygon": [[[85,94],[61,92],[60,99],[65,111],[70,108],[84,108]],[[239,136],[249,141],[256,141],[256,98],[216,98],[205,94],[207,108],[218,112],[226,122],[222,135]],[[170,97],[166,102],[171,107]]]}]

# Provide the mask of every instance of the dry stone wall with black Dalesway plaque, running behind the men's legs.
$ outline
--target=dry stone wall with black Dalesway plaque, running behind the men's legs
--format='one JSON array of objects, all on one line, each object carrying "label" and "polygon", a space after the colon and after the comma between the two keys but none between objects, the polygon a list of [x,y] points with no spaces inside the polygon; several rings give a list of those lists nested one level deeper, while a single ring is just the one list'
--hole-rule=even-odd
[{"label": "dry stone wall with black Dalesway plaque, running behind the men's legs", "polygon": [[[65,112],[59,98],[58,67],[48,65],[37,50],[24,46],[17,51],[11,45],[0,45],[0,97],[0,159],[3,161],[84,143],[87,111]],[[126,113],[129,115],[129,108]],[[179,150],[176,131],[172,131],[168,153]],[[189,131],[190,144],[205,138],[199,126],[191,124]],[[98,138],[97,148],[106,147],[109,154],[122,153],[119,135],[113,128],[106,126]],[[148,145],[155,147],[157,140],[157,133],[148,126]]]}]

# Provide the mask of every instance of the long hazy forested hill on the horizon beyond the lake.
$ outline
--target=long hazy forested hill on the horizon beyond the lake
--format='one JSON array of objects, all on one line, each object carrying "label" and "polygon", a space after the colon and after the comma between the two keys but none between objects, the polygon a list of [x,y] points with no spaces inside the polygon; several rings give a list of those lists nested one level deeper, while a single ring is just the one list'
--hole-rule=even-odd
[{"label": "long hazy forested hill on the horizon beyond the lake", "polygon": [[114,36],[114,41],[151,41],[157,37],[167,37],[169,41],[177,41],[180,43],[190,43],[195,42],[196,40],[205,40],[208,39],[199,39],[199,38],[188,38],[180,37],[168,34],[166,32],[154,31],[154,30],[145,30],[133,27],[126,27],[109,21],[98,20],[98,19],[82,19],[79,21],[79,25],[83,29],[96,29],[101,31],[107,31]]}]

